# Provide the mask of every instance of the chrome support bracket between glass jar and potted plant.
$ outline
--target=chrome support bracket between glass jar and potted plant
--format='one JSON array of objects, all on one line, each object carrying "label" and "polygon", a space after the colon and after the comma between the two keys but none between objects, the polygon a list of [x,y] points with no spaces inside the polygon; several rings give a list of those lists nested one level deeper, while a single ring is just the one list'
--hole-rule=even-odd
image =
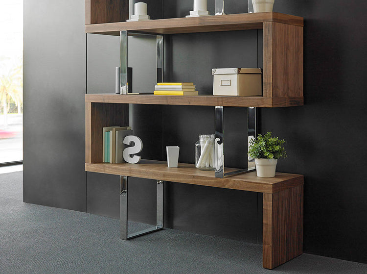
[{"label": "chrome support bracket between glass jar and potted plant", "polygon": [[[256,125],[256,107],[248,107],[247,112],[247,146],[249,144],[249,140],[252,136],[256,136],[257,134],[257,125]],[[248,166],[245,169],[240,169],[232,172],[225,173],[224,167],[224,156],[225,156],[225,148],[224,148],[224,108],[223,106],[215,106],[215,177],[216,178],[225,178],[241,173],[248,173],[255,170],[255,167],[249,167],[249,162],[253,161],[253,159],[248,158]],[[248,150],[248,149],[247,149]]]}]

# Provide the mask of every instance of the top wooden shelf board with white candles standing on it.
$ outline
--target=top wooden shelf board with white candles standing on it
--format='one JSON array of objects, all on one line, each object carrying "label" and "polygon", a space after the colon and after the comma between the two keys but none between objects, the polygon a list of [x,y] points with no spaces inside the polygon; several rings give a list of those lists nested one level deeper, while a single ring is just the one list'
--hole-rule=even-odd
[{"label": "top wooden shelf board with white candles standing on it", "polygon": [[139,22],[85,25],[86,33],[120,35],[121,30],[154,34],[262,29],[266,22],[303,26],[303,18],[277,12],[241,13],[206,17],[171,18]]}]

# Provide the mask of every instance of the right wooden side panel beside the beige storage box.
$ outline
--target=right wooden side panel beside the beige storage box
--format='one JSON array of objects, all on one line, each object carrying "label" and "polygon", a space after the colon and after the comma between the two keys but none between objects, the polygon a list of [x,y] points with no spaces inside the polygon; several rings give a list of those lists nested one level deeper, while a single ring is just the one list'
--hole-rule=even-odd
[{"label": "right wooden side panel beside the beige storage box", "polygon": [[264,23],[264,97],[303,97],[303,27]]}]

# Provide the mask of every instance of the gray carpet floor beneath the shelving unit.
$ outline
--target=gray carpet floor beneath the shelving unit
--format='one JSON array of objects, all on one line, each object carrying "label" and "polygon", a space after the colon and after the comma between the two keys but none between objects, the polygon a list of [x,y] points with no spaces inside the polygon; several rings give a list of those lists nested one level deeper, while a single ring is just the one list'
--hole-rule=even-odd
[{"label": "gray carpet floor beneath the shelving unit", "polygon": [[262,247],[164,229],[129,241],[119,222],[22,202],[23,172],[0,174],[0,274],[367,274],[367,265],[303,254],[262,268]]}]

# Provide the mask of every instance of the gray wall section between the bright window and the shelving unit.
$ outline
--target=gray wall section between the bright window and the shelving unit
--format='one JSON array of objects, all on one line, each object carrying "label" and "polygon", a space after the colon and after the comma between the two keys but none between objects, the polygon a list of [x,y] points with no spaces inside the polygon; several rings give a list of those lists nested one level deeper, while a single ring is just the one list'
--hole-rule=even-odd
[{"label": "gray wall section between the bright window and the shelving unit", "polygon": [[86,210],[83,0],[24,0],[23,200]]}]

